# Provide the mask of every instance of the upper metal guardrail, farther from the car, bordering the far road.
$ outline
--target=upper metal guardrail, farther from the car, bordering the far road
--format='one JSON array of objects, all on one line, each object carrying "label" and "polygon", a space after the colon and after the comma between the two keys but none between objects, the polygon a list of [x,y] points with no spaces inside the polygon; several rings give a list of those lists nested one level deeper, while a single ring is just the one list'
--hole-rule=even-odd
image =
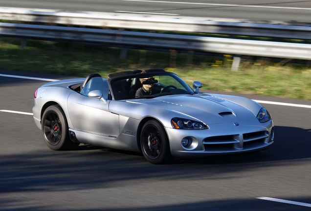
[{"label": "upper metal guardrail, farther from the car, bordering the far road", "polygon": [[[0,19],[102,28],[216,33],[288,39],[311,39],[311,26],[296,22],[251,21],[124,13],[73,12],[0,7]],[[299,23],[302,24],[302,23]]]}]

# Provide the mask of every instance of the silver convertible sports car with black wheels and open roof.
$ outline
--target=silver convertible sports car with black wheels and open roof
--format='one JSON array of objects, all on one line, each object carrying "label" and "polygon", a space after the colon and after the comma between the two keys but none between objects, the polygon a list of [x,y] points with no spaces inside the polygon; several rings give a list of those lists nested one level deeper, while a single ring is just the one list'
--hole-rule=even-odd
[{"label": "silver convertible sports car with black wheels and open roof", "polygon": [[199,92],[162,69],[90,74],[44,84],[33,115],[46,145],[80,143],[142,152],[153,164],[172,158],[259,151],[273,143],[262,105],[236,96]]}]

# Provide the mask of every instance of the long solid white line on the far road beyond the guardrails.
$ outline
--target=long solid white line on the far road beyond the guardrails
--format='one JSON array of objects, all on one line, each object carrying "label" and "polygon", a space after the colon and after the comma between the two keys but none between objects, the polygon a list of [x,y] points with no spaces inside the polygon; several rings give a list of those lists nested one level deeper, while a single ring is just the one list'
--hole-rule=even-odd
[{"label": "long solid white line on the far road beyond the guardrails", "polygon": [[273,8],[273,9],[300,9],[311,10],[311,8],[302,7],[281,7],[281,6],[262,6],[262,5],[243,5],[243,4],[218,4],[218,3],[198,3],[198,2],[181,2],[181,1],[162,1],[162,0],[121,0],[121,1],[137,1],[137,2],[152,2],[152,3],[175,3],[175,4],[197,4],[211,6],[236,6],[236,7],[258,7],[258,8]]}]

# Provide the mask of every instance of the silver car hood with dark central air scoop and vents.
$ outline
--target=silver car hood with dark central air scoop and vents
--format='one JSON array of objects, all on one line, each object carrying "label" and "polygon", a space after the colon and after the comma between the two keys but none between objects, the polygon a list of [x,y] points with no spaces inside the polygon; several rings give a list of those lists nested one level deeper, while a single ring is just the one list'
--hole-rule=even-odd
[{"label": "silver car hood with dark central air scoop and vents", "polygon": [[208,94],[170,95],[139,100],[139,103],[175,111],[176,117],[196,119],[207,125],[256,119],[256,114],[245,107]]}]

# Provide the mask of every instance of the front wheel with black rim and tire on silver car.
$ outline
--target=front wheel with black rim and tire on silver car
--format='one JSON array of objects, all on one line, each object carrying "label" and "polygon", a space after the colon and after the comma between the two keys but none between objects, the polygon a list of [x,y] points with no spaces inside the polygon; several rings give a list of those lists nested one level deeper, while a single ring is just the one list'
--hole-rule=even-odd
[{"label": "front wheel with black rim and tire on silver car", "polygon": [[168,163],[172,159],[166,132],[155,120],[149,120],[142,127],[140,147],[146,160],[152,164]]}]

